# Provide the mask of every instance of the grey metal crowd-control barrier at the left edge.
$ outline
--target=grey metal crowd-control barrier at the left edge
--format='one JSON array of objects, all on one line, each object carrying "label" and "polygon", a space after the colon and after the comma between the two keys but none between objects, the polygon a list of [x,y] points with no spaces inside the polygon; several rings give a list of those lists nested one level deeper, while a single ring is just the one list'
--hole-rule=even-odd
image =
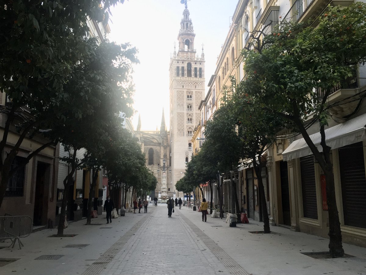
[{"label": "grey metal crowd-control barrier at the left edge", "polygon": [[18,240],[19,249],[22,249],[20,245],[24,245],[19,238],[29,236],[32,227],[30,216],[0,216],[0,240],[10,239],[12,248]]}]

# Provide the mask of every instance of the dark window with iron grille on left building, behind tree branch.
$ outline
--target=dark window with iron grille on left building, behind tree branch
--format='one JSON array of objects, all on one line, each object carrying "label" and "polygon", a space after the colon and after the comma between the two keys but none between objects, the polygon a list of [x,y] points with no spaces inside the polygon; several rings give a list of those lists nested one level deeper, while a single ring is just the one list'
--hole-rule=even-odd
[{"label": "dark window with iron grille on left building, behind tree branch", "polygon": [[[16,156],[11,164],[10,169],[18,167],[25,158]],[[25,179],[25,166],[16,170],[8,181],[8,187],[5,190],[5,197],[22,197]]]}]

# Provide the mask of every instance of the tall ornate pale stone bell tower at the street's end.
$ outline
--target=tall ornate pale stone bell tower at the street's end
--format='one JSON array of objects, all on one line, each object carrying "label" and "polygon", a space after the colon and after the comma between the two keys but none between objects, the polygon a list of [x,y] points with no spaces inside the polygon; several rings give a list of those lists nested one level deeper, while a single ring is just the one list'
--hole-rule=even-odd
[{"label": "tall ornate pale stone bell tower at the street's end", "polygon": [[174,52],[169,65],[169,106],[172,162],[172,187],[184,175],[186,163],[192,157],[192,136],[195,126],[201,123],[198,106],[205,97],[205,58],[194,48],[195,33],[190,13],[185,7],[178,33],[178,51]]}]

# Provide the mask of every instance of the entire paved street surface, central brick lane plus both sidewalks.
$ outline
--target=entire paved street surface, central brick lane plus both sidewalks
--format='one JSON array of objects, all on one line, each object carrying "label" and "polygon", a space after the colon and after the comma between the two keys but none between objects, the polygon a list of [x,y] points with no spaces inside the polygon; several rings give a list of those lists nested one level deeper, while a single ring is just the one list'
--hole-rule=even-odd
[{"label": "entire paved street surface, central brick lane plus both sidewalks", "polygon": [[[19,259],[0,267],[0,274],[366,274],[362,247],[344,244],[355,257],[318,260],[301,254],[327,250],[328,240],[314,235],[282,227],[251,234],[262,224],[230,228],[211,217],[203,223],[201,213],[186,207],[176,207],[171,218],[163,204],[148,211],[126,213],[112,224],[105,224],[105,215],[93,219],[96,225],[71,223],[65,234],[74,237],[48,237],[55,229],[35,232],[22,239],[21,250],[0,249],[0,258]],[[59,256],[36,260],[44,255]]]}]

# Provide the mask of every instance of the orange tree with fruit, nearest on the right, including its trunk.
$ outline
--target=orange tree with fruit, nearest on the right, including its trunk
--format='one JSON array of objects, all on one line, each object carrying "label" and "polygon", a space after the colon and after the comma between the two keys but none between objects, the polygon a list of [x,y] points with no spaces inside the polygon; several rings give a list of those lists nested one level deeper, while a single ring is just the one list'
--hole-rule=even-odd
[{"label": "orange tree with fruit, nearest on the right, including its trunk", "polygon": [[[281,22],[270,35],[252,33],[243,51],[247,77],[237,92],[255,98],[259,106],[291,121],[302,134],[326,178],[329,215],[329,252],[343,256],[339,214],[336,205],[331,148],[326,144],[327,98],[332,88],[355,77],[354,70],[366,61],[366,4],[328,7],[311,23]],[[323,92],[317,92],[319,89]],[[306,131],[309,114],[318,121],[321,150]]]}]

